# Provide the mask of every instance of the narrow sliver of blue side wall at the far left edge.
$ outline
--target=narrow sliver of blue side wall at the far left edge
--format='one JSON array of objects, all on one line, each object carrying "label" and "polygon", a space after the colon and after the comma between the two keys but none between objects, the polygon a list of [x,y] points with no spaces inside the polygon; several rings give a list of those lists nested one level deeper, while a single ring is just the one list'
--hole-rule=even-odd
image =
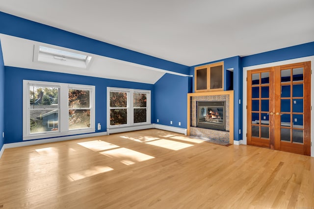
[{"label": "narrow sliver of blue side wall at the far left edge", "polygon": [[4,143],[2,132],[4,132],[4,63],[0,42],[0,150]]}]

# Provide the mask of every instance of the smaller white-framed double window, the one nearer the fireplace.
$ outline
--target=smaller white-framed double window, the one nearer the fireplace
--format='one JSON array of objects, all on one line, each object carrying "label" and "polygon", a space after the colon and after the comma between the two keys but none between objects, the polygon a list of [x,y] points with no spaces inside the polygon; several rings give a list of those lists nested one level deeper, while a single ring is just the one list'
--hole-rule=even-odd
[{"label": "smaller white-framed double window, the one nearer the fireplace", "polygon": [[108,127],[151,123],[150,91],[107,88]]}]

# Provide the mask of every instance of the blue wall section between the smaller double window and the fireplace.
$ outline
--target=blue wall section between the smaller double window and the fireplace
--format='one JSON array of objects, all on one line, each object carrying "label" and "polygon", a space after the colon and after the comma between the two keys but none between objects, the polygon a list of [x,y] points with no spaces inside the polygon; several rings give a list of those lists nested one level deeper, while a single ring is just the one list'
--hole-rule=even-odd
[{"label": "blue wall section between the smaller double window and the fireplace", "polygon": [[155,116],[152,117],[152,123],[186,128],[187,93],[191,93],[191,85],[191,77],[167,73],[161,77],[154,85]]}]

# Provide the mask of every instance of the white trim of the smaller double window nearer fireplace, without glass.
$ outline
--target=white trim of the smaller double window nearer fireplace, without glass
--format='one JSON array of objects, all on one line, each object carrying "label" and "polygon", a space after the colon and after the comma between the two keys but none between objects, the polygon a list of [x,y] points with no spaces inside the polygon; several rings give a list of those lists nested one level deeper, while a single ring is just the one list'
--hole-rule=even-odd
[{"label": "white trim of the smaller double window nearer fireplace, without glass", "polygon": [[[128,123],[121,125],[110,125],[110,92],[124,92],[128,93],[128,101],[127,101],[127,111],[128,111]],[[146,122],[142,123],[134,123],[133,116],[133,93],[146,93],[147,101],[146,101]],[[151,91],[150,90],[139,90],[139,89],[125,89],[125,88],[113,88],[107,87],[107,129],[112,128],[121,128],[121,127],[132,127],[139,125],[147,125],[151,124]]]}]

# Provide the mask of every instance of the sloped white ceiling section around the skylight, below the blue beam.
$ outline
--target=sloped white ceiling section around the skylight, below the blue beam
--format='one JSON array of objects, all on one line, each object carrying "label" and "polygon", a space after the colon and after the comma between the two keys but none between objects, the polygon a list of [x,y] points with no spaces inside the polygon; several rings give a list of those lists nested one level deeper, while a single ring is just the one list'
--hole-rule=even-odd
[{"label": "sloped white ceiling section around the skylight, below the blue beam", "polygon": [[[46,70],[148,84],[155,84],[166,72],[180,74],[86,52],[83,53],[92,56],[91,65],[87,70],[57,64],[33,62],[34,46],[48,46],[62,50],[69,49],[5,34],[0,34],[0,40],[4,65],[10,67]],[[70,51],[81,53],[81,51],[72,49],[70,49]]]}]

